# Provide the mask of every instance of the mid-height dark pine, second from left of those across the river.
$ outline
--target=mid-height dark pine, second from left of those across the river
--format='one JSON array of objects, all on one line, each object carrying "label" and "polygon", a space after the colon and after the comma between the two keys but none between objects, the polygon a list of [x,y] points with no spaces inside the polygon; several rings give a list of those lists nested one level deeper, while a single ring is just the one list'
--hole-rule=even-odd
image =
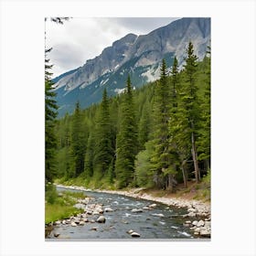
[{"label": "mid-height dark pine, second from left of those across the river", "polygon": [[111,136],[109,100],[104,89],[95,127],[94,174],[101,178],[112,162],[113,148]]}]

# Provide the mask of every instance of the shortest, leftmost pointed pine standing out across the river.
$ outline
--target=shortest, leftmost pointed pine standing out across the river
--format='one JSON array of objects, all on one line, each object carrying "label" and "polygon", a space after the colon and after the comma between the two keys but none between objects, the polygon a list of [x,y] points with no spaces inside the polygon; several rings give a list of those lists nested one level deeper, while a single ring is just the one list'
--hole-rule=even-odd
[{"label": "shortest, leftmost pointed pine standing out across the river", "polygon": [[77,102],[71,126],[71,155],[73,171],[79,176],[84,171],[85,136],[81,124],[80,102]]}]

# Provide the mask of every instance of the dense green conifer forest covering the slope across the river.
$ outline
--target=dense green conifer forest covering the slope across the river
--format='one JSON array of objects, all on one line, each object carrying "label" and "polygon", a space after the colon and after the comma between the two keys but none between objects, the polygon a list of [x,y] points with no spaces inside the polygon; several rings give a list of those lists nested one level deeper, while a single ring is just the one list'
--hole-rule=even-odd
[{"label": "dense green conifer forest covering the slope across the river", "polygon": [[161,65],[159,80],[81,110],[55,125],[56,174],[85,187],[175,191],[210,169],[210,56],[198,62],[189,43],[184,68]]}]

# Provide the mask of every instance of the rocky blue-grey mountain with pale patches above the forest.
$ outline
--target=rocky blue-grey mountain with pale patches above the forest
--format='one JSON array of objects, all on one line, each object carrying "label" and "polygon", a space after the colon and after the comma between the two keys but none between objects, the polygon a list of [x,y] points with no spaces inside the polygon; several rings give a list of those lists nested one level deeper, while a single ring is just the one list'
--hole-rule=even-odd
[{"label": "rocky blue-grey mountain with pale patches above the forest", "polygon": [[121,93],[128,73],[135,88],[158,79],[162,59],[170,67],[176,56],[182,69],[189,41],[203,59],[210,44],[210,18],[181,18],[147,35],[128,34],[113,42],[82,67],[54,79],[59,116],[73,112],[76,101],[82,108],[101,101],[105,87],[111,96]]}]

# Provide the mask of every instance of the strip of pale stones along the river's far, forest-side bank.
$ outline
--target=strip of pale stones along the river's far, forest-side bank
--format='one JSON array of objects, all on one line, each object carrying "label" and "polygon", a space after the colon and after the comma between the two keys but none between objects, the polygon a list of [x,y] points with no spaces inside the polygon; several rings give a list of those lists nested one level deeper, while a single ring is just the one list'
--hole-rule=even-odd
[{"label": "strip of pale stones along the river's far, forest-side bank", "polygon": [[[56,184],[56,186],[81,191],[92,191],[89,188],[79,186],[65,186],[61,184]],[[210,220],[210,204],[195,199],[185,199],[181,197],[155,197],[154,195],[145,193],[142,188],[133,188],[129,190],[93,189],[93,191],[155,201],[167,206],[174,206],[176,208],[187,208],[188,213],[187,216],[184,216],[185,218],[204,217],[205,219]]]}]

